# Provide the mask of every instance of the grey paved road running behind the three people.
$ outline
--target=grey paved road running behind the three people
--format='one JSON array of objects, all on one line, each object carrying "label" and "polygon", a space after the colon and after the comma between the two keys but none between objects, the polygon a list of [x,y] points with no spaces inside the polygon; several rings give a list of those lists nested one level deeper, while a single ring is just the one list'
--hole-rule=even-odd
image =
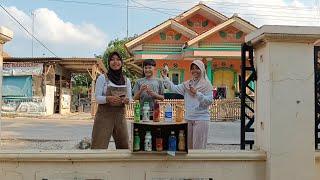
[{"label": "grey paved road running behind the three people", "polygon": [[[1,139],[79,142],[91,137],[92,124],[90,114],[85,113],[46,118],[2,117]],[[208,144],[240,144],[240,121],[210,122]]]}]

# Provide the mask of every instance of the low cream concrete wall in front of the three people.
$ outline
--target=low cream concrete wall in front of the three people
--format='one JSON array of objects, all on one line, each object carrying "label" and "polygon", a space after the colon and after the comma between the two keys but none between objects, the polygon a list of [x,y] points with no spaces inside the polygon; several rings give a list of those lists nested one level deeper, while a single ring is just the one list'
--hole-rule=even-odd
[{"label": "low cream concrete wall in front of the three people", "polygon": [[[4,162],[5,161],[5,162]],[[128,151],[0,153],[1,180],[151,180],[155,177],[264,180],[263,152],[194,152],[187,156]],[[158,179],[153,179],[158,180]]]}]

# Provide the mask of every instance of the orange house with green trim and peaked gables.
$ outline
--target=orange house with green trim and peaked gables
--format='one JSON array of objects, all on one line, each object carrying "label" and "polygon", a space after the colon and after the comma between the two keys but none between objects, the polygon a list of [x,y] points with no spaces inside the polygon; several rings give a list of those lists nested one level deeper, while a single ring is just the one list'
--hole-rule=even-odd
[{"label": "orange house with green trim and peaked gables", "polygon": [[237,15],[228,18],[200,3],[125,46],[137,64],[155,59],[158,76],[168,65],[169,78],[175,84],[189,79],[192,60],[201,59],[216,98],[234,98],[239,92],[241,43],[255,29]]}]

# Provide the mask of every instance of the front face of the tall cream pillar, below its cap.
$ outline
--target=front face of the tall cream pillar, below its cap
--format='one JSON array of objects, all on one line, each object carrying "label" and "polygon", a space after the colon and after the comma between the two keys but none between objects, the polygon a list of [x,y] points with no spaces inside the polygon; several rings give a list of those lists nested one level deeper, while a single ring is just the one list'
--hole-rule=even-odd
[{"label": "front face of the tall cream pillar, below its cap", "polygon": [[[269,43],[271,179],[314,178],[314,47]],[[279,170],[281,168],[281,170]],[[303,169],[302,169],[303,168]],[[295,171],[295,173],[292,173]],[[276,178],[277,177],[277,178]]]}]

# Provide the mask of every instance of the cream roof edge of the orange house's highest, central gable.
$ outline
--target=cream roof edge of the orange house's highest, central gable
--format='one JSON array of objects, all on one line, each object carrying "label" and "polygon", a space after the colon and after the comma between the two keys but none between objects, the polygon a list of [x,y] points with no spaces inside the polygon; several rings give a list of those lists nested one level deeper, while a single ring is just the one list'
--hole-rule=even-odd
[{"label": "cream roof edge of the orange house's highest, central gable", "polygon": [[179,14],[174,19],[178,22],[181,22],[196,13],[199,13],[200,15],[207,17],[208,19],[210,19],[214,22],[218,21],[218,23],[228,20],[228,17],[226,17],[225,15],[219,13],[218,11],[215,11],[214,9],[206,6],[203,3],[197,4],[196,6],[192,7],[191,9]]}]

